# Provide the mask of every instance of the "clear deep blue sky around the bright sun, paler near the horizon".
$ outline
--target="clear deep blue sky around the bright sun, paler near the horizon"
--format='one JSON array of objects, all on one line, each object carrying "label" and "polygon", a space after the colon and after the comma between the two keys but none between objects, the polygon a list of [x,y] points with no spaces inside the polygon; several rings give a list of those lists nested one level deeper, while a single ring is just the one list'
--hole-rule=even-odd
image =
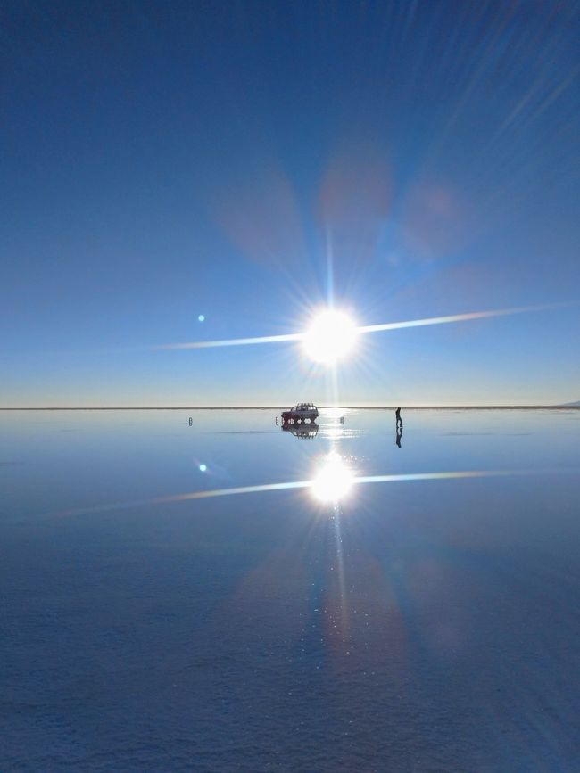
[{"label": "clear deep blue sky around the bright sun, paler near the horizon", "polygon": [[[4,2],[0,407],[580,399],[580,5]],[[332,270],[330,270],[332,267]],[[200,321],[203,315],[203,321]]]}]

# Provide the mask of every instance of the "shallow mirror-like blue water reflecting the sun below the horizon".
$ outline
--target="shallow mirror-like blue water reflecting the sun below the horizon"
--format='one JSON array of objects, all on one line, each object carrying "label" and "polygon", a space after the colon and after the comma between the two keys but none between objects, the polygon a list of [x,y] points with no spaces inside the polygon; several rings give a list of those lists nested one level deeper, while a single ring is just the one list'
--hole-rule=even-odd
[{"label": "shallow mirror-like blue water reflecting the sun below the horizon", "polygon": [[1,413],[0,770],[580,769],[580,411],[402,419]]}]

